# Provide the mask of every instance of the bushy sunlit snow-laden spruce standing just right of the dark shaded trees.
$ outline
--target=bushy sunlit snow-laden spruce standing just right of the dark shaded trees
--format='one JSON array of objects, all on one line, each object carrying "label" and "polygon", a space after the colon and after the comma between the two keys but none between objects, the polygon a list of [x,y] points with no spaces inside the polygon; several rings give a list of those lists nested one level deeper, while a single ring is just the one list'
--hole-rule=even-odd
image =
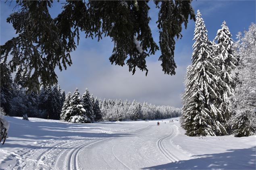
[{"label": "bushy sunlit snow-laden spruce standing just right of the dark shaded trees", "polygon": [[83,108],[83,101],[81,99],[81,94],[78,89],[72,94],[70,99],[70,106],[65,112],[64,121],[72,123],[91,123],[91,119],[87,117],[86,110]]}]

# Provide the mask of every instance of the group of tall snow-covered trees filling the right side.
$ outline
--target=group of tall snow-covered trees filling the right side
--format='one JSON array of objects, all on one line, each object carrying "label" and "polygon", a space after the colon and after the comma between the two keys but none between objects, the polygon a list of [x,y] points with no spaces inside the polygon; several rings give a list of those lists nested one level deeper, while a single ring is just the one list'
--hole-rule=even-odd
[{"label": "group of tall snow-covered trees filling the right side", "polygon": [[[255,126],[252,127],[251,122],[255,122],[256,98],[255,86],[251,86],[250,82],[255,82],[255,72],[246,72],[247,76],[250,75],[248,82],[244,80],[242,75],[245,74],[243,73],[244,70],[255,67],[255,62],[251,61],[253,58],[255,61],[255,55],[248,57],[246,54],[246,52],[249,52],[246,51],[248,49],[246,43],[248,42],[245,43],[244,39],[240,38],[233,46],[232,35],[225,21],[214,39],[217,43],[211,42],[208,39],[200,11],[197,12],[192,65],[187,68],[186,90],[183,95],[182,127],[189,136],[227,135],[232,131],[235,132],[235,136],[254,134]],[[252,27],[254,28],[255,25],[253,24],[250,27],[253,32]],[[254,34],[254,41],[250,41],[255,50],[255,30],[251,34]],[[253,52],[252,49],[250,49],[251,52]],[[235,52],[235,50],[237,51]],[[245,54],[246,57],[244,57]],[[248,61],[251,63],[250,66],[246,64]],[[237,90],[235,90],[236,86]],[[252,87],[250,88],[252,91],[247,90],[248,93],[252,94],[250,101],[245,97],[247,94],[244,91],[241,92],[238,86]],[[237,113],[237,111],[234,111],[234,109],[236,110],[234,102],[236,103],[235,107],[246,108],[246,105],[241,105],[244,102],[237,102],[238,95],[236,94],[239,93],[244,95],[244,98],[240,97],[239,101],[243,100],[250,103],[251,108],[247,108],[246,112],[250,112],[252,116],[248,121],[241,122],[237,118],[231,119]],[[238,107],[238,105],[240,106]],[[231,120],[233,120],[232,126],[230,124]],[[246,130],[244,127],[248,126],[250,128]],[[243,132],[237,133],[237,131],[240,131],[237,129],[242,127]]]}]

